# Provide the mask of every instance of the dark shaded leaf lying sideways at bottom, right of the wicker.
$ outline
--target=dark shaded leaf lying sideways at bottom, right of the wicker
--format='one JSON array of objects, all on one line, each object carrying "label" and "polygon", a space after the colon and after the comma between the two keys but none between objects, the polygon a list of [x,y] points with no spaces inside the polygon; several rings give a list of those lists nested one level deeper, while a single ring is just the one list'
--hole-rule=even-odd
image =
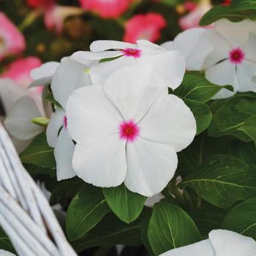
[{"label": "dark shaded leaf lying sideways at bottom, right of the wicker", "polygon": [[127,224],[118,219],[115,214],[110,213],[86,236],[74,241],[72,246],[77,252],[94,246],[114,246],[116,244],[139,246],[141,244],[140,227],[146,214],[148,211],[143,211],[135,222]]}]

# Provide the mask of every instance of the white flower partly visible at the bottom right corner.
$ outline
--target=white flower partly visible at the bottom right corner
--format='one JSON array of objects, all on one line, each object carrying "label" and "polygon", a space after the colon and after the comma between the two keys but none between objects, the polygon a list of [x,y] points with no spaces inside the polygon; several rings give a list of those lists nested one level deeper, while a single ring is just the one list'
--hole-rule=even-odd
[{"label": "white flower partly visible at the bottom right corner", "polygon": [[228,230],[213,230],[209,238],[196,244],[172,249],[161,256],[255,256],[256,242]]}]

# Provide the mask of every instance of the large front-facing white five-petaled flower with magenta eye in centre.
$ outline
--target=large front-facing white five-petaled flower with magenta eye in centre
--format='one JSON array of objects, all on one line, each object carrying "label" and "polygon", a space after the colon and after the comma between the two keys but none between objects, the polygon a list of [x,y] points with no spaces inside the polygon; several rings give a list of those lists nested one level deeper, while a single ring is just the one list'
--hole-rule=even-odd
[{"label": "large front-facing white five-petaled flower with magenta eye in centre", "polygon": [[176,152],[196,133],[191,110],[167,94],[165,80],[148,65],[123,67],[104,86],[74,91],[67,127],[77,142],[72,163],[80,178],[97,187],[124,182],[146,196],[173,178]]}]

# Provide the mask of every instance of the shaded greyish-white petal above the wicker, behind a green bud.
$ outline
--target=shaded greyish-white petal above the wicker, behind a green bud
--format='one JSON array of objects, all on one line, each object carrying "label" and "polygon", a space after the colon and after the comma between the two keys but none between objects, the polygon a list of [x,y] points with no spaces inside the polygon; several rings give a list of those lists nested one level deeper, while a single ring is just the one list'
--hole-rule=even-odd
[{"label": "shaded greyish-white petal above the wicker, behind a green bud", "polygon": [[10,134],[18,140],[29,140],[43,131],[42,127],[31,120],[41,116],[34,99],[24,96],[12,106],[4,121]]}]

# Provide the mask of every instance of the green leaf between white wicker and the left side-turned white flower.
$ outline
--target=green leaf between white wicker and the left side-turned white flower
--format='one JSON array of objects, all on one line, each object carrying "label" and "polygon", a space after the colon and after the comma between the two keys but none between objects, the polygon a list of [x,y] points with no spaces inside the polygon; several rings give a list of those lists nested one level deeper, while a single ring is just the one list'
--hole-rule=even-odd
[{"label": "green leaf between white wicker and the left side-turned white flower", "polygon": [[45,168],[56,168],[53,148],[48,146],[45,132],[37,135],[20,154],[21,162]]}]

